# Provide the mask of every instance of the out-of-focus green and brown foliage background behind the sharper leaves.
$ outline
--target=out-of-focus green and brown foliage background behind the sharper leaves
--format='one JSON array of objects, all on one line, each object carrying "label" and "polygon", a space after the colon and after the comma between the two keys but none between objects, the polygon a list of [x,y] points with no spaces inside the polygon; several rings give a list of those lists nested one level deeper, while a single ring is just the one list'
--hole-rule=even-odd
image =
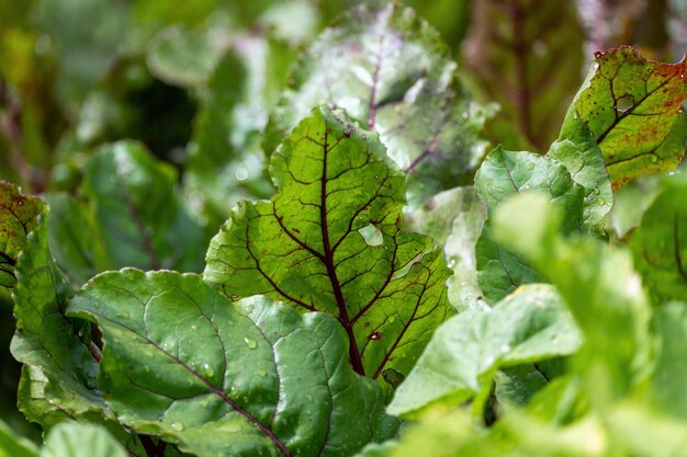
[{"label": "out-of-focus green and brown foliage background behind the sharper leaves", "polygon": [[[354,3],[0,0],[0,179],[78,196],[92,151],[134,138],[177,169],[192,208],[214,195],[195,205],[212,226],[226,207],[213,202],[271,194],[270,110],[299,50]],[[687,50],[687,0],[406,3],[441,33],[474,98],[498,103],[484,135],[508,149],[545,152],[595,52],[629,44],[677,61]],[[13,328],[0,290],[0,418],[36,438],[15,407]]]}]

